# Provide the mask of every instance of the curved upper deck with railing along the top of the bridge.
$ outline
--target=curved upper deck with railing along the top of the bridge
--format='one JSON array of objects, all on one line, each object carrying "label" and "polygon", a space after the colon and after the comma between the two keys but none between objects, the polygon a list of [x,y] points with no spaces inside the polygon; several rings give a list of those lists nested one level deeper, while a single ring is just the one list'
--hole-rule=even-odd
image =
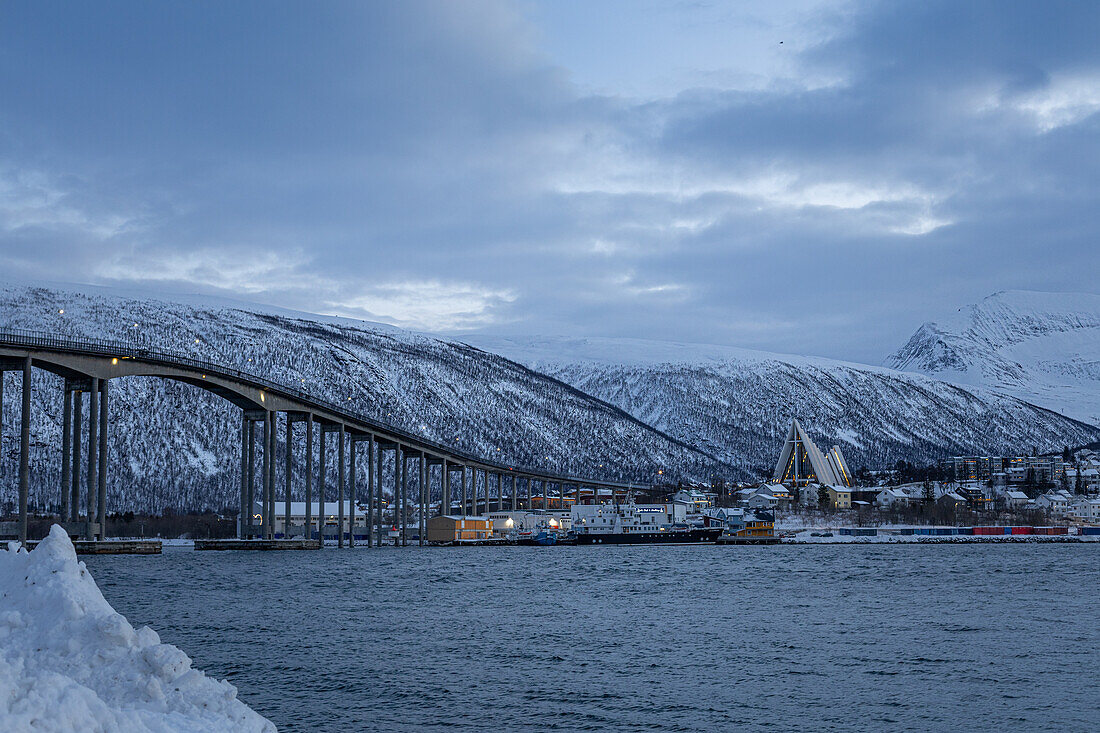
[{"label": "curved upper deck with railing along the top of the bridge", "polygon": [[635,486],[634,483],[628,484],[616,481],[582,479],[580,477],[569,477],[524,466],[504,466],[496,463],[495,461],[487,461],[473,453],[455,450],[452,447],[443,446],[422,436],[409,433],[405,428],[386,420],[369,417],[367,415],[361,413],[353,413],[344,405],[324,400],[323,397],[318,397],[317,395],[310,394],[300,387],[282,384],[268,378],[241,369],[235,369],[233,366],[226,366],[212,361],[196,359],[178,351],[152,348],[146,346],[141,339],[134,339],[131,342],[125,342],[88,337],[61,337],[52,333],[43,333],[40,331],[19,328],[0,328],[0,344],[16,348],[55,349],[68,353],[86,353],[97,357],[141,359],[143,361],[158,363],[166,366],[186,366],[213,374],[216,376],[244,382],[253,386],[261,387],[273,394],[293,397],[306,405],[332,413],[333,415],[337,415],[338,417],[350,423],[359,423],[360,425],[370,426],[372,429],[377,429],[381,433],[385,433],[388,436],[409,444],[410,447],[425,448],[431,450],[432,452],[458,459],[459,461],[477,463],[509,473],[534,475],[536,479],[544,478],[551,481],[561,481],[564,483],[598,484],[603,486],[616,486],[623,489]]}]

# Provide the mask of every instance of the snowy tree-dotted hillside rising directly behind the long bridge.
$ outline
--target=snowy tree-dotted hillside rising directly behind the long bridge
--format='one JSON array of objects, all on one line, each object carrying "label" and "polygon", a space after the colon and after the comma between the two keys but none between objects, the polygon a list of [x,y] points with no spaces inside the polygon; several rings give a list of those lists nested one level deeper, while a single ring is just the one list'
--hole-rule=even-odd
[{"label": "snowy tree-dotted hillside rising directly behind the long bridge", "polygon": [[[407,430],[518,466],[646,481],[658,468],[703,478],[716,463],[525,366],[388,326],[25,287],[0,288],[0,325],[141,338],[299,384]],[[0,461],[8,477],[14,475],[18,458],[18,385],[16,374],[9,373]],[[36,370],[34,386],[31,500],[48,504],[59,495],[61,380]],[[112,511],[235,505],[239,409],[197,387],[143,378],[112,381],[110,405]],[[278,450],[282,455],[283,448]],[[728,468],[719,472],[737,473]],[[2,492],[0,501],[13,501],[14,483],[4,481]]]}]

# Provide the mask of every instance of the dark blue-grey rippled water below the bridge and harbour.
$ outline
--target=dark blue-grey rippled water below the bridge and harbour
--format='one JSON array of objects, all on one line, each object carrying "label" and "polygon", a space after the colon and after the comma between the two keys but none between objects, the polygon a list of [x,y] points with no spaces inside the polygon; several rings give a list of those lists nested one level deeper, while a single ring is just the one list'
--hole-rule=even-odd
[{"label": "dark blue-grey rippled water below the bridge and harbour", "polygon": [[1100,727],[1100,545],[87,562],[285,731]]}]

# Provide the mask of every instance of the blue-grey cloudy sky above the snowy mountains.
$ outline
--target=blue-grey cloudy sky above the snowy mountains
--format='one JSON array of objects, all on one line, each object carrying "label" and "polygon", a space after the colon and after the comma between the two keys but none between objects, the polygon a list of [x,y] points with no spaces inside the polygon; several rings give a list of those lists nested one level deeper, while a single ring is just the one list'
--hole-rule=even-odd
[{"label": "blue-grey cloudy sky above the snowy mountains", "polygon": [[0,278],[878,363],[1100,291],[1100,3],[0,3]]}]

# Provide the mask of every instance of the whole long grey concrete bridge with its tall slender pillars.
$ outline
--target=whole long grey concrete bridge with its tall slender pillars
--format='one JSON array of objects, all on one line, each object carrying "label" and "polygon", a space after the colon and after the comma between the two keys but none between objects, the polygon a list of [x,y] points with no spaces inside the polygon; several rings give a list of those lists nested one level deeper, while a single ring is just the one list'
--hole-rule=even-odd
[{"label": "whole long grey concrete bridge with its tall slender pillars", "polygon": [[[261,537],[274,538],[276,517],[275,463],[276,418],[286,415],[286,483],[284,488],[284,526],[292,527],[290,492],[293,477],[293,435],[297,423],[305,423],[305,523],[292,530],[309,536],[314,526],[312,481],[314,481],[314,431],[318,433],[318,496],[317,517],[324,523],[333,519],[337,526],[354,527],[356,504],[356,445],[366,444],[367,450],[367,527],[366,543],[380,545],[385,537],[383,522],[382,462],[385,453],[394,456],[394,501],[396,516],[409,516],[406,490],[408,488],[409,462],[415,463],[418,475],[416,501],[419,516],[419,543],[425,543],[426,522],[430,506],[429,486],[433,467],[440,467],[442,488],[440,512],[453,507],[452,474],[458,472],[462,515],[477,514],[477,473],[484,477],[485,512],[491,511],[491,477],[496,484],[496,510],[505,510],[504,484],[507,477],[512,488],[508,492],[513,511],[518,508],[519,494],[524,484],[524,504],[529,508],[536,485],[541,488],[542,503],[549,501],[550,490],[557,486],[561,503],[565,500],[564,488],[574,488],[574,501],[581,500],[581,490],[591,489],[593,496],[601,492],[612,499],[625,495],[632,484],[564,475],[543,470],[507,466],[498,461],[455,450],[414,435],[385,420],[351,412],[348,407],[318,398],[304,390],[278,384],[256,374],[197,360],[185,354],[173,353],[144,346],[99,339],[74,339],[50,333],[0,329],[0,376],[6,371],[22,373],[22,413],[20,422],[19,452],[19,538],[26,541],[28,493],[30,488],[30,435],[31,435],[31,373],[42,369],[64,379],[64,407],[62,418],[62,470],[59,506],[62,522],[81,525],[86,539],[103,539],[107,517],[107,444],[109,425],[108,384],[122,376],[155,376],[176,380],[198,386],[228,400],[241,409],[241,490],[240,511],[248,522],[239,523],[242,539]],[[84,395],[88,400],[88,446],[81,458],[84,417]],[[350,400],[350,398],[349,398]],[[0,379],[0,426],[3,424],[3,380]],[[258,426],[258,429],[257,429]],[[258,435],[257,435],[258,434]],[[326,468],[326,439],[337,438],[337,496],[338,514],[324,517],[323,495],[329,470]],[[256,438],[261,446],[257,453]],[[261,495],[260,514],[256,505],[255,469],[260,462]],[[81,467],[81,462],[85,466]],[[80,477],[85,474],[85,505],[80,506]],[[417,473],[413,478],[417,478]],[[468,486],[470,492],[468,495]],[[344,496],[350,499],[351,516],[344,517]],[[450,511],[448,508],[448,511]],[[345,522],[346,519],[346,522]],[[81,524],[82,522],[82,524]],[[395,519],[396,522],[396,519]],[[408,545],[408,522],[399,524],[399,544]],[[320,524],[318,523],[320,535]],[[288,530],[287,535],[290,534]],[[338,532],[338,545],[343,547],[344,533]],[[354,546],[354,532],[348,534],[348,545]]]}]

